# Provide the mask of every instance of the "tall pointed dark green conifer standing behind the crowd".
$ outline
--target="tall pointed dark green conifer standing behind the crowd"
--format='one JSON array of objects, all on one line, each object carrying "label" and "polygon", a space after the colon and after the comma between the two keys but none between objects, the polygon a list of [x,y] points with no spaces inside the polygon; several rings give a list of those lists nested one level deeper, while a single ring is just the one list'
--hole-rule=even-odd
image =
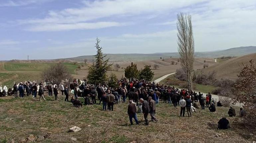
[{"label": "tall pointed dark green conifer standing behind the crowd", "polygon": [[92,65],[88,67],[89,73],[87,76],[88,82],[92,84],[103,84],[107,81],[107,71],[112,64],[108,64],[109,59],[103,60],[106,55],[103,55],[102,47],[99,45],[100,40],[96,38],[97,54],[94,55],[95,60]]}]

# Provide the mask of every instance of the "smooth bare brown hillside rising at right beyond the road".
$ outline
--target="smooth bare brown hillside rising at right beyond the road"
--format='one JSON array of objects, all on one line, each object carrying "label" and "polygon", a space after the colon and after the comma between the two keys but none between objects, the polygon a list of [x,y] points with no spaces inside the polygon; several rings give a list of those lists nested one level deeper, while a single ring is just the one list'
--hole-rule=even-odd
[{"label": "smooth bare brown hillside rising at right beyond the road", "polygon": [[217,73],[217,78],[236,80],[237,75],[241,70],[241,66],[239,65],[241,65],[242,63],[247,64],[250,59],[256,61],[256,53],[229,59],[227,61],[223,61],[221,63],[203,69],[202,71],[205,73],[215,71]]}]

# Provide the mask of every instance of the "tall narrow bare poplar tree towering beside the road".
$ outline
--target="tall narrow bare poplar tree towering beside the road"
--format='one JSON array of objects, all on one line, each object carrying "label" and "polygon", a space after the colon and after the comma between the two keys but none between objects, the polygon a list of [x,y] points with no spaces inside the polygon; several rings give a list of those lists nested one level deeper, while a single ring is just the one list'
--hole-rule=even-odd
[{"label": "tall narrow bare poplar tree towering beside the road", "polygon": [[194,38],[190,15],[177,15],[178,50],[181,56],[181,66],[187,75],[189,91],[192,91],[192,70],[194,63]]}]

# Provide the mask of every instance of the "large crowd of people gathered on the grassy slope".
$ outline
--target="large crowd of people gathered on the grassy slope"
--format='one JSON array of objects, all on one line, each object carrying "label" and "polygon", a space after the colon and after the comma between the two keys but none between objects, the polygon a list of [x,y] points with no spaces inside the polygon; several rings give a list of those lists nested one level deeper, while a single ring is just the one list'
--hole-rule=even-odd
[{"label": "large crowd of people gathered on the grassy slope", "polygon": [[[45,91],[48,91],[48,96],[55,96],[55,100],[58,99],[58,94],[65,96],[64,101],[69,102],[71,97],[71,103],[74,107],[82,107],[82,105],[101,104],[102,110],[114,110],[115,104],[127,103],[129,105],[127,113],[131,125],[134,118],[136,124],[138,123],[137,114],[142,112],[144,114],[145,125],[149,124],[148,115],[151,116],[151,121],[157,122],[155,116],[156,104],[160,102],[165,104],[173,104],[174,108],[181,107],[180,116],[185,116],[185,111],[189,117],[192,117],[192,112],[196,112],[196,109],[205,109],[206,107],[210,112],[215,112],[215,101],[212,99],[211,94],[208,93],[205,97],[202,93],[189,92],[186,89],[178,89],[175,87],[160,85],[155,82],[147,82],[145,80],[138,79],[126,79],[122,78],[118,80],[118,87],[108,87],[106,84],[93,85],[87,83],[86,79],[76,80],[74,79],[70,84],[61,83],[60,85],[53,85],[51,82],[42,81],[37,84],[35,82],[26,81],[25,83],[15,84],[13,89],[8,90],[8,94],[13,94],[22,98],[32,95],[34,99],[39,96],[39,100],[46,100],[44,95]],[[60,92],[59,92],[60,91]],[[78,100],[78,97],[82,97],[84,102]],[[96,100],[98,99],[98,100]],[[99,103],[97,103],[97,101]],[[217,102],[217,106],[221,107],[220,101]],[[138,111],[137,111],[138,107]],[[241,109],[240,113],[245,115],[245,111]],[[230,117],[235,116],[234,108],[230,108],[228,111]],[[224,125],[223,125],[224,124]],[[222,118],[219,121],[219,128],[228,128],[229,125],[226,118]],[[225,127],[224,127],[225,126]]]}]

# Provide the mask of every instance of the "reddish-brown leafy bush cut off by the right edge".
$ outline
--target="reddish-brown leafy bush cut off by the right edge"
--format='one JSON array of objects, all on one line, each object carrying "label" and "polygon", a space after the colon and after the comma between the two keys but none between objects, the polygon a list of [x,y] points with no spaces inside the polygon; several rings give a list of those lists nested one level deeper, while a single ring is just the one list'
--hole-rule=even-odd
[{"label": "reddish-brown leafy bush cut off by the right edge", "polygon": [[238,80],[234,85],[234,102],[243,103],[243,107],[248,112],[245,123],[250,129],[256,128],[256,66],[251,59],[249,64],[243,64],[238,75]]}]

